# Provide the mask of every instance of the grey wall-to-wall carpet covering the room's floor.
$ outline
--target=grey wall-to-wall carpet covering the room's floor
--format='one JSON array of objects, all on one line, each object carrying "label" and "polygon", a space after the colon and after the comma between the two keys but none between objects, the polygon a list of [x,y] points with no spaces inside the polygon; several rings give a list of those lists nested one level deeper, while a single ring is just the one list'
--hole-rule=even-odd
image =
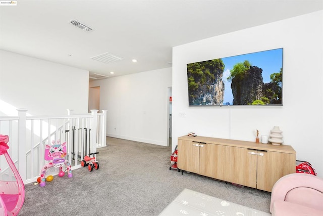
[{"label": "grey wall-to-wall carpet covering the room's floor", "polygon": [[[19,215],[158,215],[185,188],[269,212],[271,193],[170,170],[171,148],[107,138],[99,169],[25,186]],[[40,170],[39,170],[40,171]]]}]

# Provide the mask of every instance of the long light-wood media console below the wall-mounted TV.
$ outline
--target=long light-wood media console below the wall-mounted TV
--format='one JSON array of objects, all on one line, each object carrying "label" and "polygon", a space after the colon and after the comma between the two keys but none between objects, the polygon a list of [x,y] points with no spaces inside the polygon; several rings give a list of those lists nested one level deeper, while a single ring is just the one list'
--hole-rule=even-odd
[{"label": "long light-wood media console below the wall-mounted TV", "polygon": [[181,170],[263,191],[295,172],[296,152],[288,145],[183,136],[177,149]]}]

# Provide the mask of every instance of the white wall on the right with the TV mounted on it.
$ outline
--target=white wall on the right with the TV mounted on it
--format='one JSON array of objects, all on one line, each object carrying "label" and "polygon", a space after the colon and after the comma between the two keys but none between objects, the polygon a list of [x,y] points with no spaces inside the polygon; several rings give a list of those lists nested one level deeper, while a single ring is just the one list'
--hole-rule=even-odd
[{"label": "white wall on the right with the TV mounted on it", "polygon": [[[278,125],[296,158],[309,161],[323,177],[322,38],[319,11],[173,48],[173,149],[175,138],[188,132],[254,141],[255,129],[268,135]],[[187,63],[276,48],[284,48],[283,106],[188,107]]]}]

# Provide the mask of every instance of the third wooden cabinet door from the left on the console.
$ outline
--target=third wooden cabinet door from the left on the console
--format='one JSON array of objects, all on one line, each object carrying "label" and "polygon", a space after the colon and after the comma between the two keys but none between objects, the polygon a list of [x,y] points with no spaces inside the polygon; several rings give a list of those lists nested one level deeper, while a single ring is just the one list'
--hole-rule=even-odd
[{"label": "third wooden cabinet door from the left on the console", "polygon": [[255,153],[256,150],[228,146],[226,151],[226,181],[256,188],[257,155]]}]

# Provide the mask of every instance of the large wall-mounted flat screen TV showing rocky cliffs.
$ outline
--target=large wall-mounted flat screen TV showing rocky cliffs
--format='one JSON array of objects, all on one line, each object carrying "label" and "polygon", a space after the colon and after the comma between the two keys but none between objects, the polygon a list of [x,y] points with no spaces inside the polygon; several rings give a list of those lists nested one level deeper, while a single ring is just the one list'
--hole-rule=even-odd
[{"label": "large wall-mounted flat screen TV showing rocky cliffs", "polygon": [[187,64],[189,106],[283,105],[283,48]]}]

